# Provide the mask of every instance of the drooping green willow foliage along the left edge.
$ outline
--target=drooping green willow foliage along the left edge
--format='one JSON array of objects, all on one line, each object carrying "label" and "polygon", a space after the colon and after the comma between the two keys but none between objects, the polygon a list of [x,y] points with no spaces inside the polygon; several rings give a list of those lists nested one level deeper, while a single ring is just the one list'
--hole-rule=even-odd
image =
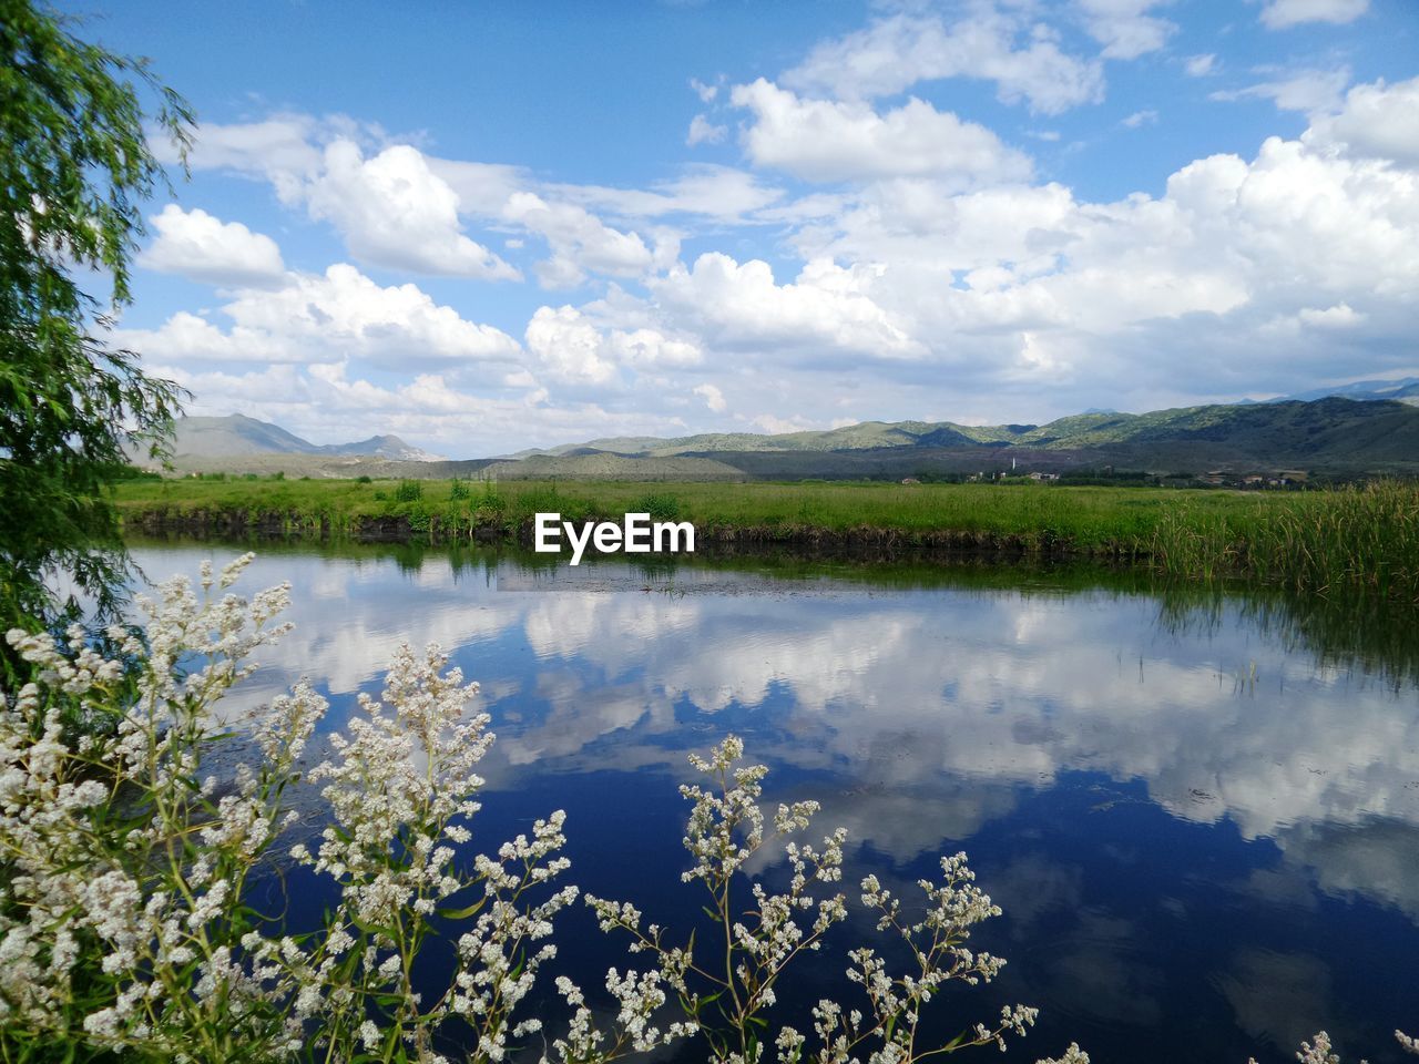
[{"label": "drooping green willow foliage along the left edge", "polygon": [[[136,84],[135,84],[136,82]],[[148,113],[140,87],[159,96]],[[105,492],[126,444],[152,457],[182,390],[109,348],[108,314],[131,301],[139,201],[163,177],[145,125],[180,150],[192,113],[145,62],[70,34],[24,0],[0,16],[0,627],[55,620],[47,575],[67,572],[101,610],[128,556]],[[99,299],[75,275],[99,271]],[[68,610],[72,613],[72,600]]]}]

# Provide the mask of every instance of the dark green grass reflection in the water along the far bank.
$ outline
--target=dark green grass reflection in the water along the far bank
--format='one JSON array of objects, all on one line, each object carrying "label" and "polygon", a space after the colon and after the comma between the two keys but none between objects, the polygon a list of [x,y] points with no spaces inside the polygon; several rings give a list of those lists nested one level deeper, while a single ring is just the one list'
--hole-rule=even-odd
[{"label": "dark green grass reflection in the water along the far bank", "polygon": [[[138,545],[183,545],[192,539],[136,538]],[[209,541],[211,542],[211,541]],[[454,580],[487,579],[499,562],[511,562],[532,575],[565,570],[566,560],[508,546],[427,546],[423,543],[312,542],[268,539],[253,545],[263,555],[392,559],[406,573],[419,572],[427,558],[444,559]],[[1010,592],[1022,596],[1060,597],[1073,593],[1111,593],[1120,597],[1154,597],[1158,624],[1171,634],[1219,630],[1229,610],[1277,638],[1287,651],[1311,654],[1318,664],[1358,668],[1398,687],[1419,685],[1419,606],[1357,590],[1344,596],[1317,596],[1284,587],[1257,586],[1222,577],[1210,582],[1178,580],[1151,575],[1137,566],[1105,566],[1091,560],[1002,559],[990,555],[946,555],[921,550],[810,552],[785,546],[712,548],[694,556],[626,555],[589,559],[583,566],[624,570],[639,586],[673,594],[692,592],[691,572],[755,573],[783,582],[836,582],[864,589],[966,593]]]}]

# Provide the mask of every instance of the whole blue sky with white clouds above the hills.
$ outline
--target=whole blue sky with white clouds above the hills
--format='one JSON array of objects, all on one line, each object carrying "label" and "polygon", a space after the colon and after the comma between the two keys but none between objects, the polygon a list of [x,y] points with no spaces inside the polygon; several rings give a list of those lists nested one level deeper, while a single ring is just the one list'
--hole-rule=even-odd
[{"label": "whole blue sky with white clouds above the hills", "polygon": [[115,342],[467,458],[1419,375],[1419,0],[62,0],[197,112]]}]

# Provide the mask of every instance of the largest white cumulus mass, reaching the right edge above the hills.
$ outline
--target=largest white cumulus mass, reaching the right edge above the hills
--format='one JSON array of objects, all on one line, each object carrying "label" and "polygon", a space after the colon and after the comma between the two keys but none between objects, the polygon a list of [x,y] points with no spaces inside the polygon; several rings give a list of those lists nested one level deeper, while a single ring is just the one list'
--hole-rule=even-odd
[{"label": "largest white cumulus mass, reaching the right edge above the hills", "polygon": [[[1369,87],[1352,99],[1359,113],[1388,115],[1399,102],[1388,94],[1408,91]],[[1158,406],[1159,394],[1198,396],[1199,379],[1226,394],[1286,390],[1298,373],[1401,369],[1401,322],[1419,291],[1419,187],[1374,157],[1381,146],[1402,153],[1396,122],[1379,126],[1395,131],[1382,145],[1358,149],[1337,131],[1361,119],[1318,121],[1252,159],[1181,167],[1159,197],[1114,203],[1059,184],[871,183],[795,241],[809,261],[885,264],[874,308],[969,392],[1019,387],[1027,400],[1050,380],[1083,403],[1090,382],[1108,379]],[[1281,319],[1297,326],[1284,349],[1266,339]],[[1002,399],[993,416],[1017,401]]]}]

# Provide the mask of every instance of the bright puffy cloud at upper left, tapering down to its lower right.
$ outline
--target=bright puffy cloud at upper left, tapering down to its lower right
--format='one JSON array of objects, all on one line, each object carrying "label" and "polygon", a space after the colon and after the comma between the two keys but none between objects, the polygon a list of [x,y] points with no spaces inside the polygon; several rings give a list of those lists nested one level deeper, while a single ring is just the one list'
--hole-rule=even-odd
[{"label": "bright puffy cloud at upper left, tapering down to its lower right", "polygon": [[409,145],[365,159],[352,140],[336,140],[304,197],[311,216],[332,221],[363,261],[484,281],[519,277],[463,234],[457,193]]}]

